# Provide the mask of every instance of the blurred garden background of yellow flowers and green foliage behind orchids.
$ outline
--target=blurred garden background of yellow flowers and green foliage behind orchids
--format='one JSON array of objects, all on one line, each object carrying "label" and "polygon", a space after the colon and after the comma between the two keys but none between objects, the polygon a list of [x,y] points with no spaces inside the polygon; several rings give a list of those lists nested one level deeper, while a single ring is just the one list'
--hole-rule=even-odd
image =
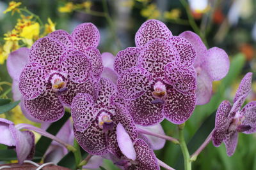
[{"label": "blurred garden background of yellow flowers and green foliage behind orchids", "polygon": [[[211,101],[196,110],[186,123],[189,153],[204,142],[214,127],[215,113],[223,99],[232,101],[244,74],[252,71],[253,90],[247,99],[256,100],[256,0],[108,0],[63,1],[24,0],[0,1],[0,98],[11,98],[12,79],[6,69],[8,54],[21,46],[31,46],[36,39],[55,29],[72,32],[76,25],[92,22],[100,31],[100,52],[113,55],[135,46],[134,36],[147,19],[163,21],[173,35],[183,31],[196,32],[208,48],[223,48],[230,57],[230,71],[213,84]],[[10,11],[6,11],[6,9]],[[15,124],[31,123],[22,116],[19,106],[0,117]],[[161,123],[167,135],[177,137],[177,127],[168,121]],[[38,125],[39,126],[39,125]],[[210,143],[193,162],[193,169],[256,169],[256,135],[239,134],[237,150],[228,157],[225,146],[215,148]],[[166,142],[157,157],[175,169],[183,169],[180,147]],[[105,160],[106,169],[116,169]]]}]

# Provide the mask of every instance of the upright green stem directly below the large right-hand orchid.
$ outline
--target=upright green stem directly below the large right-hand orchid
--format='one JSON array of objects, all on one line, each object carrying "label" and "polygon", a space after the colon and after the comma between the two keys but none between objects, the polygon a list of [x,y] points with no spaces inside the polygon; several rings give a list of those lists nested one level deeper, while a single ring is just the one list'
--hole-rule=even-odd
[{"label": "upright green stem directly below the large right-hand orchid", "polygon": [[185,123],[181,124],[181,125],[178,125],[180,148],[181,148],[183,158],[184,158],[184,169],[185,170],[191,170],[190,155],[189,155],[188,147],[186,145],[186,141],[185,141],[185,138],[184,138],[184,127],[185,127]]}]

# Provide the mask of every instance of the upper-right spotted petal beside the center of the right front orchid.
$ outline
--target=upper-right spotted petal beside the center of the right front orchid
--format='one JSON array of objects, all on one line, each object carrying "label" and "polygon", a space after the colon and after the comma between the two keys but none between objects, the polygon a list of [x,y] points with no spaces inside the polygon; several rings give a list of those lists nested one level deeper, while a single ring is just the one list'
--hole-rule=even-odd
[{"label": "upper-right spotted petal beside the center of the right front orchid", "polygon": [[165,67],[164,80],[183,94],[196,90],[196,71],[193,66],[184,66],[180,62],[169,62]]}]

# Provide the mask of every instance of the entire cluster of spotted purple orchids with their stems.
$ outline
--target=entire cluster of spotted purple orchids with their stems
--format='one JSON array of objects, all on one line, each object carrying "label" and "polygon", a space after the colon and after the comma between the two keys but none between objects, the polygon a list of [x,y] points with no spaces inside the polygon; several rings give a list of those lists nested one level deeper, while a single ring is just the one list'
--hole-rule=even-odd
[{"label": "entire cluster of spotted purple orchids with their stems", "polygon": [[[207,50],[191,31],[173,36],[159,20],[142,24],[136,32],[136,46],[118,52],[116,57],[100,54],[99,41],[97,27],[84,23],[71,34],[57,30],[38,39],[30,49],[20,48],[10,54],[7,64],[13,96],[21,100],[24,115],[35,122],[51,123],[63,117],[67,108],[73,125],[67,122],[66,134],[62,134],[65,138],[61,138],[61,134],[52,137],[31,125],[15,126],[1,119],[4,138],[0,143],[15,146],[20,164],[33,157],[31,131],[36,131],[72,151],[72,139],[76,138],[91,156],[110,159],[121,169],[172,169],[157,159],[153,150],[163,148],[165,140],[179,144],[184,154],[188,149],[184,138],[166,136],[160,123],[166,118],[177,124],[182,134],[195,106],[211,99],[212,81],[228,73],[227,53],[218,47]],[[206,143],[212,140],[214,146],[223,141],[229,156],[236,149],[237,132],[256,130],[255,101],[241,110],[251,81],[252,73],[246,74],[233,106],[228,101],[220,104],[216,127],[207,138]],[[62,154],[66,153],[64,150]],[[89,165],[89,159],[84,164]]]}]

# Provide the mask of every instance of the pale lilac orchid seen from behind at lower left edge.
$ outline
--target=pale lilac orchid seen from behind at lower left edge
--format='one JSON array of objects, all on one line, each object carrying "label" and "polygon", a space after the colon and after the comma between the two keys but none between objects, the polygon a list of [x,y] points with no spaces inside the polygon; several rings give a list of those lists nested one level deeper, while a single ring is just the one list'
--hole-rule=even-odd
[{"label": "pale lilac orchid seen from behind at lower left edge", "polygon": [[9,120],[0,118],[0,143],[15,148],[19,164],[32,159],[35,153],[35,136],[31,131],[19,131]]}]

